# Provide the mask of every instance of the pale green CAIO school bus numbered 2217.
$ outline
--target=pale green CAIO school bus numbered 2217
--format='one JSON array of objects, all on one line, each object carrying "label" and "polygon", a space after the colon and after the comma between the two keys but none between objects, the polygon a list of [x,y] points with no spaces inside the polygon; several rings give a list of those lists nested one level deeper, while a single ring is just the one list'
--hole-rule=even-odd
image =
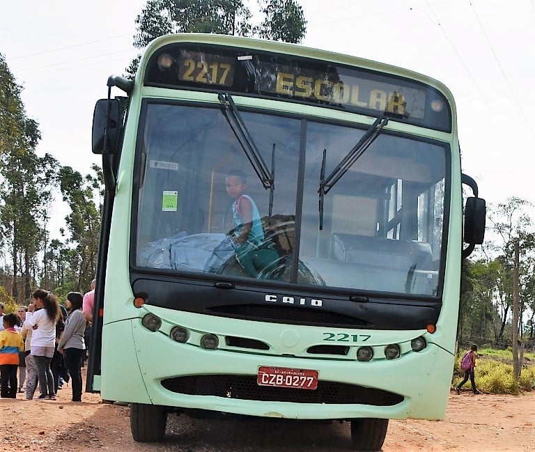
[{"label": "pale green CAIO school bus numbered 2217", "polygon": [[86,389],[130,403],[135,440],[223,413],[348,421],[369,450],[389,419],[443,419],[486,215],[446,87],[201,33],[107,86]]}]

